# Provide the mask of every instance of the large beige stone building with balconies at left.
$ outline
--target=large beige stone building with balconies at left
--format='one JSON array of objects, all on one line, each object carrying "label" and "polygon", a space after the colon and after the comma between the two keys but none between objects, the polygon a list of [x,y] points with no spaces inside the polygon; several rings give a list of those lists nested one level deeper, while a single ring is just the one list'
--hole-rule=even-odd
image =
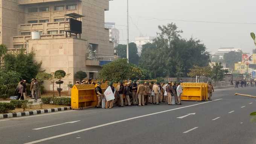
[{"label": "large beige stone building with balconies at left", "polygon": [[[85,71],[87,79],[96,78],[101,65],[115,58],[104,26],[109,0],[0,0],[0,5],[0,43],[9,50],[33,51],[47,73],[70,73],[62,84],[64,90],[67,83],[78,80],[77,71]],[[84,16],[81,38],[66,37],[69,18],[65,15],[70,13]],[[40,32],[37,38],[32,38],[34,31]],[[45,88],[52,86],[45,82]]]}]

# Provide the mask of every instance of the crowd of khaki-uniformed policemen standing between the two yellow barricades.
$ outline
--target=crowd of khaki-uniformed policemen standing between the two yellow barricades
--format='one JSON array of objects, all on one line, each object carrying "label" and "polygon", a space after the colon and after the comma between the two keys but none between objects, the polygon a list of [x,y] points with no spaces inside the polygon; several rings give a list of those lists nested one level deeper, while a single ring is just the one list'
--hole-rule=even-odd
[{"label": "crowd of khaki-uniformed policemen standing between the two yellow barricades", "polygon": [[[105,103],[105,108],[113,108],[116,104],[119,107],[125,106],[145,106],[148,103],[153,105],[159,105],[159,103],[164,102],[167,105],[172,105],[172,97],[175,99],[175,104],[181,105],[181,93],[182,87],[180,82],[133,82],[123,83],[120,81],[116,88],[113,86],[113,82],[109,82],[108,85],[114,94],[115,99],[107,101]],[[97,82],[95,92],[97,95],[97,106],[100,108],[102,100],[105,100],[104,94],[101,89],[101,82]],[[103,106],[104,107],[104,106]]]}]

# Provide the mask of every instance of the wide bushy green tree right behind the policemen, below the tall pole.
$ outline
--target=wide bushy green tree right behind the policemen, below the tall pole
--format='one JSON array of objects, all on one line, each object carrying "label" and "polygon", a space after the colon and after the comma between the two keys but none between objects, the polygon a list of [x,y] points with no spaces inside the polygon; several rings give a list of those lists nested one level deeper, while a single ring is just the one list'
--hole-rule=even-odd
[{"label": "wide bushy green tree right behind the policemen, below the tall pole", "polygon": [[117,59],[103,65],[99,78],[113,82],[142,77],[142,70],[134,64],[128,64],[127,59]]}]

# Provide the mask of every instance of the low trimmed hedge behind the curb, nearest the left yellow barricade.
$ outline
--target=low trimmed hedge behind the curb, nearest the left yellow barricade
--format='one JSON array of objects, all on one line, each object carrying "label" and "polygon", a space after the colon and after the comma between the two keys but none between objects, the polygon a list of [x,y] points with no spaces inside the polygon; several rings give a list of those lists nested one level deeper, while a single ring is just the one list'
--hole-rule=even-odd
[{"label": "low trimmed hedge behind the curb, nearest the left yellow barricade", "polygon": [[69,97],[43,97],[41,101],[44,104],[53,104],[53,105],[71,105],[71,98]]}]

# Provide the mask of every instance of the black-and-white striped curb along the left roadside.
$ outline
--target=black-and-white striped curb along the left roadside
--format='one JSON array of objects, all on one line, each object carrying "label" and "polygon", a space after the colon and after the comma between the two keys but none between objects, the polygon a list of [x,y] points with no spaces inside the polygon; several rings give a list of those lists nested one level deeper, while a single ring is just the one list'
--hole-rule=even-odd
[{"label": "black-and-white striped curb along the left roadside", "polygon": [[13,118],[13,117],[23,117],[23,116],[37,115],[37,114],[45,114],[45,113],[58,112],[58,111],[67,111],[67,110],[70,110],[70,109],[71,109],[71,106],[64,107],[64,108],[40,109],[40,110],[35,110],[35,111],[0,114],[0,119]]}]

